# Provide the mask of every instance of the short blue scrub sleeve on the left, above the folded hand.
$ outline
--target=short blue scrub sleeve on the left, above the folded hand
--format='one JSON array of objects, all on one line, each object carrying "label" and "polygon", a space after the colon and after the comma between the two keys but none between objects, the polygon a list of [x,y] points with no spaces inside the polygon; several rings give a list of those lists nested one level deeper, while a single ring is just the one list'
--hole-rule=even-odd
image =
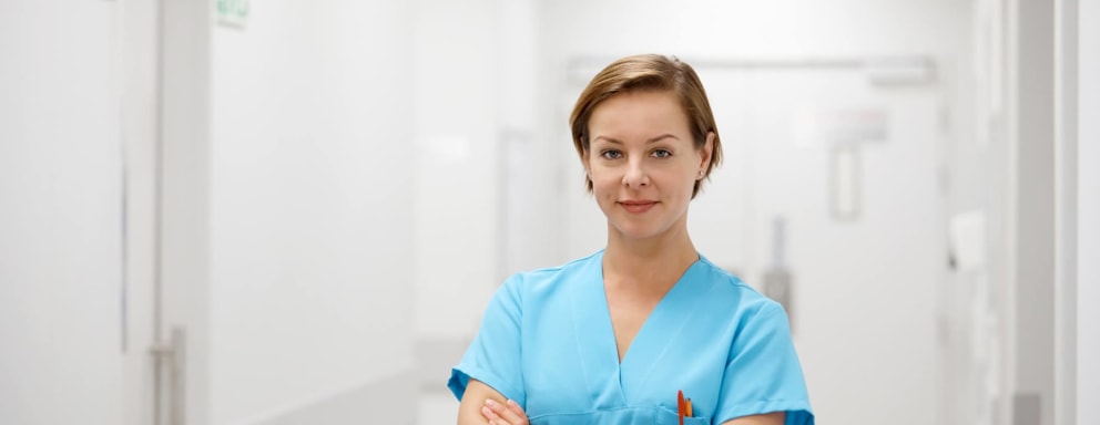
[{"label": "short blue scrub sleeve on the left, above the folded hand", "polygon": [[451,370],[447,386],[458,400],[462,400],[472,377],[521,406],[527,404],[520,363],[521,283],[522,274],[516,274],[497,289],[481,318],[477,338]]}]

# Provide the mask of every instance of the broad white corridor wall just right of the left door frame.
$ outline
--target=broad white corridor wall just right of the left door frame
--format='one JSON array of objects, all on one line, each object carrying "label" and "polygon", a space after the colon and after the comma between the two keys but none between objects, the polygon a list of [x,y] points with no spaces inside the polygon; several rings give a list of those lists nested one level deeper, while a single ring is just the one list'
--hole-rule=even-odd
[{"label": "broad white corridor wall just right of the left door frame", "polygon": [[210,423],[410,421],[370,387],[412,367],[411,7],[251,6],[212,30]]}]

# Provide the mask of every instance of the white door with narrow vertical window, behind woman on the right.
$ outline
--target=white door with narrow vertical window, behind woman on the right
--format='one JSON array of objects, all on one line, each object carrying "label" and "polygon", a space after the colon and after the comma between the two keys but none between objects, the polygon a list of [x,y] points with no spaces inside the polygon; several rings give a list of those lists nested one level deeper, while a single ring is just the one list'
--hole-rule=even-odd
[{"label": "white door with narrow vertical window, behind woman on the right", "polygon": [[938,422],[936,87],[875,85],[858,69],[701,73],[727,163],[692,209],[700,249],[765,291],[770,269],[791,273],[822,421]]}]

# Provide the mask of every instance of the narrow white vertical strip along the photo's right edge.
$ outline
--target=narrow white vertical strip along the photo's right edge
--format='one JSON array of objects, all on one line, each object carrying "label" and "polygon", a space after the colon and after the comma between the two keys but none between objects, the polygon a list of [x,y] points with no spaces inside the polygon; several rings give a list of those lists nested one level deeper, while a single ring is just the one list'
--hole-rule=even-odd
[{"label": "narrow white vertical strip along the photo's right edge", "polygon": [[1077,423],[1100,424],[1100,2],[1078,3]]}]

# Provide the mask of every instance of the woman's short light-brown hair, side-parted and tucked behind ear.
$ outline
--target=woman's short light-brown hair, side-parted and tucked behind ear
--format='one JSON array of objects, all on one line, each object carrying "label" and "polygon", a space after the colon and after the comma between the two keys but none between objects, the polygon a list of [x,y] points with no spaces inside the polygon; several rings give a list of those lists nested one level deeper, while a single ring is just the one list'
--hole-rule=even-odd
[{"label": "woman's short light-brown hair, side-parted and tucked behind ear", "polygon": [[[639,54],[627,56],[612,62],[592,77],[573,106],[569,116],[569,126],[573,135],[573,146],[577,154],[584,158],[589,151],[590,139],[588,122],[592,111],[603,101],[620,93],[634,91],[670,91],[680,99],[680,105],[688,116],[688,125],[695,142],[695,148],[706,145],[706,135],[714,133],[714,147],[711,162],[706,165],[704,177],[710,178],[711,170],[722,163],[722,142],[719,129],[711,112],[711,103],[706,100],[703,83],[691,65],[674,56],[660,54]],[[584,177],[588,190],[592,191],[592,180]],[[692,198],[699,194],[702,179],[695,182]]]}]

